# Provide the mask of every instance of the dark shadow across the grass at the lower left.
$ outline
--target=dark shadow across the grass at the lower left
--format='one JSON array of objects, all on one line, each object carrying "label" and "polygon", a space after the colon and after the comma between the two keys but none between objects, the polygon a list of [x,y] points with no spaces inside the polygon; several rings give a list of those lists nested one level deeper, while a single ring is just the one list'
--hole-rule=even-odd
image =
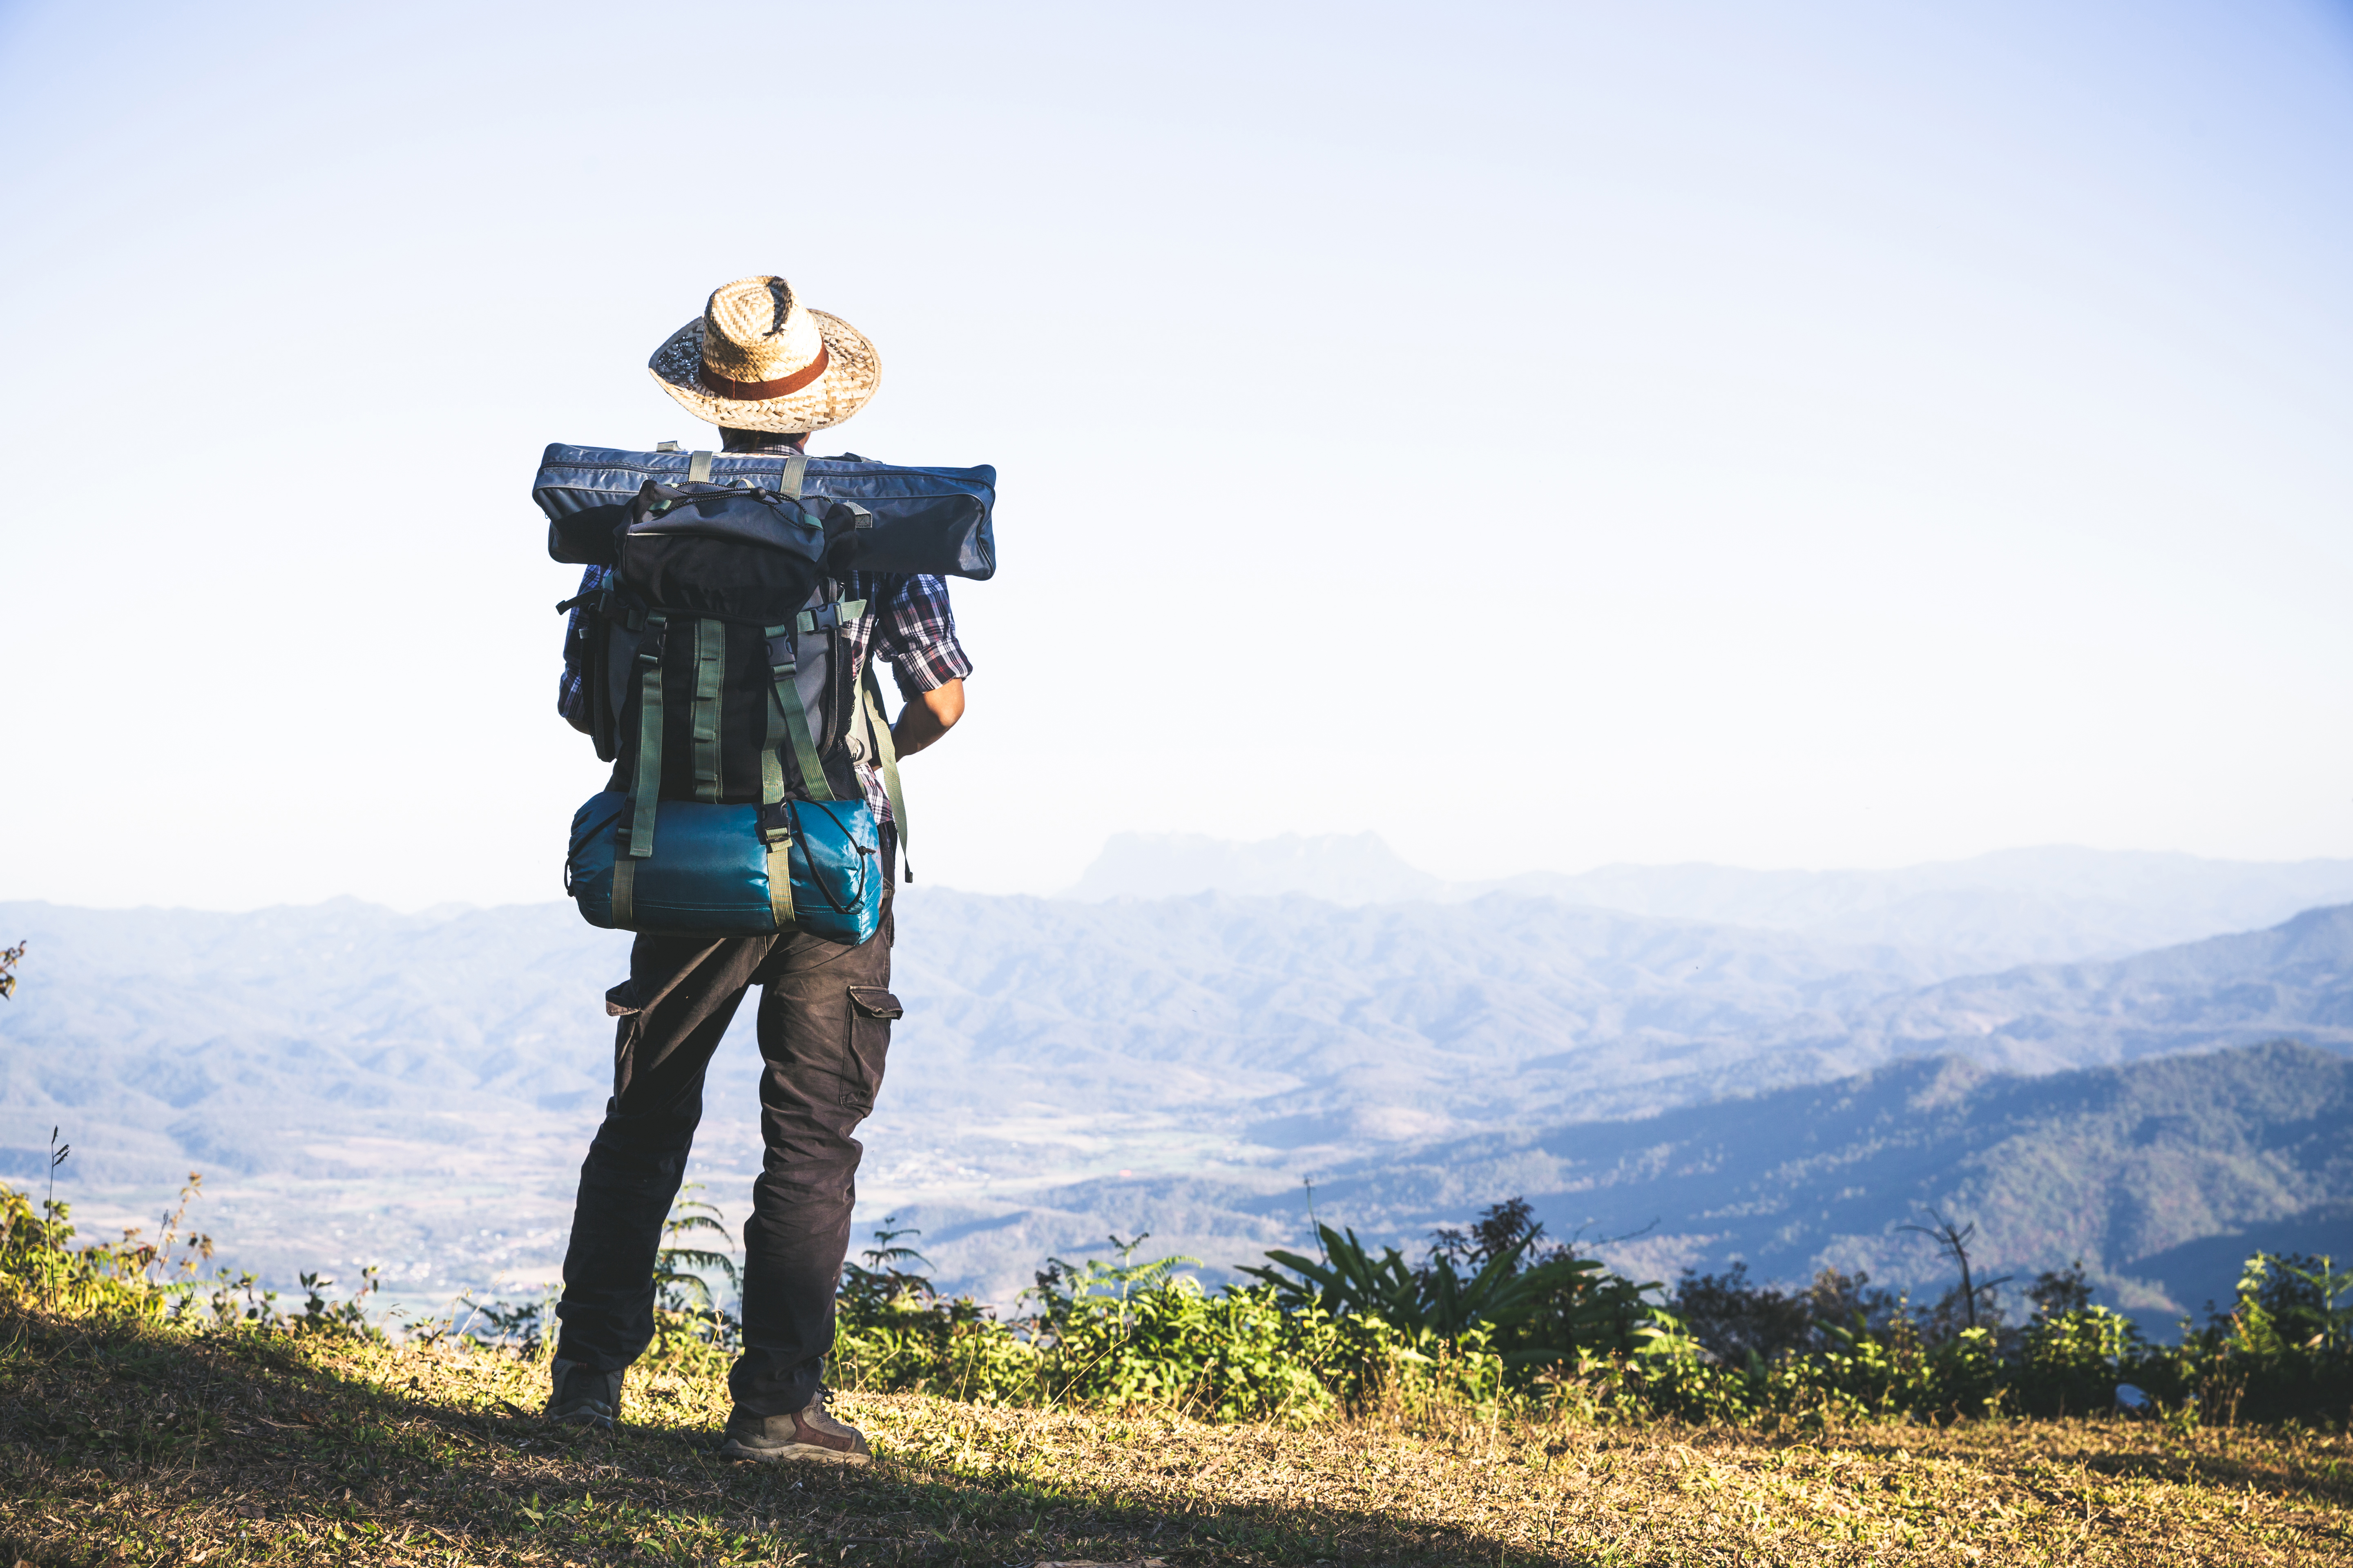
[{"label": "dark shadow across the grass at the lower left", "polygon": [[1169,1509],[1035,1462],[755,1467],[715,1458],[704,1425],[579,1434],[464,1389],[466,1361],[489,1354],[445,1359],[435,1387],[431,1366],[407,1382],[358,1375],[334,1342],[0,1319],[0,1561],[1506,1556],[1473,1533],[1367,1512]]}]

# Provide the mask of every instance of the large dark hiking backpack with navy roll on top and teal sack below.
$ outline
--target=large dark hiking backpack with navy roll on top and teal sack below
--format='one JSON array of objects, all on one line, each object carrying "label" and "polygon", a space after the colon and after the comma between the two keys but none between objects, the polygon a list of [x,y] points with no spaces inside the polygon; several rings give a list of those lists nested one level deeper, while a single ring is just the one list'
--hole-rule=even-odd
[{"label": "large dark hiking backpack with navy roll on top and teal sack below", "polygon": [[885,870],[856,764],[880,764],[901,842],[906,806],[873,670],[842,658],[866,607],[838,583],[991,576],[995,470],[548,447],[532,494],[548,552],[600,567],[565,604],[588,729],[616,764],[572,823],[581,914],[873,936]]}]

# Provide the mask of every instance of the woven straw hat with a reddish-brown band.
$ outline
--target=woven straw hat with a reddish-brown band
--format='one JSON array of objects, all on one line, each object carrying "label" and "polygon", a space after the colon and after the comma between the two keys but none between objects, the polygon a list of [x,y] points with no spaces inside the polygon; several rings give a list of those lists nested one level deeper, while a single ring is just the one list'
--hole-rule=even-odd
[{"label": "woven straw hat with a reddish-brown band", "polygon": [[802,306],[781,277],[720,287],[645,367],[687,414],[736,430],[824,430],[882,383],[875,346],[842,317]]}]

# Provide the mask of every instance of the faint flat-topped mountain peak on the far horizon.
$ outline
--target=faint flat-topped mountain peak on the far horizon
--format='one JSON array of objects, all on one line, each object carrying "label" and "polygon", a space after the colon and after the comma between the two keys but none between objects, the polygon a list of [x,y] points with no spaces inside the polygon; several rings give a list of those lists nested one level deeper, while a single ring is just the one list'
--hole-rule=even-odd
[{"label": "faint flat-topped mountain peak on the far horizon", "polygon": [[1186,898],[1304,893],[1325,903],[1414,903],[1445,884],[1398,858],[1377,832],[1285,832],[1254,844],[1200,832],[1115,832],[1064,898]]}]

